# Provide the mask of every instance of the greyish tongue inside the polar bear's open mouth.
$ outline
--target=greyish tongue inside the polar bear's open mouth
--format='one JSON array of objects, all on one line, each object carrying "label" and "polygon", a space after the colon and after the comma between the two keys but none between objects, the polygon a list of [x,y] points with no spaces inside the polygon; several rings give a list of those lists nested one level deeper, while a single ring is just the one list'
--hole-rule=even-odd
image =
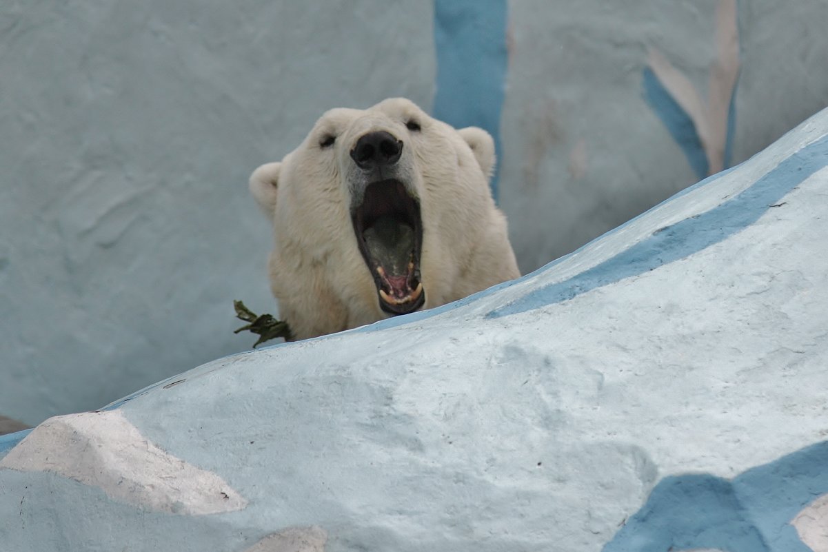
[{"label": "greyish tongue inside the polar bear's open mouth", "polygon": [[373,262],[383,267],[389,283],[394,287],[407,286],[408,263],[412,261],[414,251],[414,228],[397,218],[380,217],[363,231],[363,238]]}]

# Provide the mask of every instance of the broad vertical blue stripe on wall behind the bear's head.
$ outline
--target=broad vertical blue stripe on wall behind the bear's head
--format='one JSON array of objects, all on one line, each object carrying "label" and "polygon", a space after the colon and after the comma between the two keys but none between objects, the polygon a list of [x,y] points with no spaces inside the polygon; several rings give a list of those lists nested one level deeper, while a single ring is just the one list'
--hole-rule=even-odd
[{"label": "broad vertical blue stripe on wall behind the bear's head", "polygon": [[[481,127],[500,146],[500,111],[506,83],[505,0],[435,0],[437,55],[433,114],[456,128]],[[499,163],[498,163],[499,167]],[[498,194],[498,172],[492,194]]]}]

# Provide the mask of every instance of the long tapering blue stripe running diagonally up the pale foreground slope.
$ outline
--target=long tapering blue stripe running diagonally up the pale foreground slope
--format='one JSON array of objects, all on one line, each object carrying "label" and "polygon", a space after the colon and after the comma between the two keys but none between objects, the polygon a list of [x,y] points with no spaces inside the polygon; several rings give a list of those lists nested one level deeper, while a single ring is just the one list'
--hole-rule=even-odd
[{"label": "long tapering blue stripe running diagonally up the pale foreground slope", "polygon": [[[797,151],[747,190],[723,204],[660,228],[648,238],[599,265],[567,281],[532,290],[512,304],[493,310],[488,316],[517,314],[570,300],[595,288],[609,286],[624,278],[638,276],[668,262],[700,252],[756,222],[770,205],[778,203],[795,186],[825,166],[828,166],[828,137],[822,137]],[[717,176],[700,184],[715,178]]]}]

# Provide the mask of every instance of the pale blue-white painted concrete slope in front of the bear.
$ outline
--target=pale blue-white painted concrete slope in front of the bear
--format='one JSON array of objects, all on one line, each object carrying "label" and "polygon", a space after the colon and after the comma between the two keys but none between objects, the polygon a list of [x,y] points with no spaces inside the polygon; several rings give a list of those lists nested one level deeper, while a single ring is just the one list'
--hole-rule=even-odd
[{"label": "pale blue-white painted concrete slope in front of the bear", "polygon": [[518,281],[7,436],[2,545],[825,552],[826,197],[828,111]]}]

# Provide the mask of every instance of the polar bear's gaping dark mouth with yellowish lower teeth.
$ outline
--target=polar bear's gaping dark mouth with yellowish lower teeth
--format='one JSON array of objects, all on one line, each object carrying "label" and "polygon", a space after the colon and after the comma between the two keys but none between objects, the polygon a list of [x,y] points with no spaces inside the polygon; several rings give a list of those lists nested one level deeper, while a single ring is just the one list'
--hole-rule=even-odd
[{"label": "polar bear's gaping dark mouth with yellowish lower teeth", "polygon": [[368,185],[351,219],[379,306],[390,314],[419,309],[426,301],[420,281],[419,202],[399,180],[381,180]]}]

